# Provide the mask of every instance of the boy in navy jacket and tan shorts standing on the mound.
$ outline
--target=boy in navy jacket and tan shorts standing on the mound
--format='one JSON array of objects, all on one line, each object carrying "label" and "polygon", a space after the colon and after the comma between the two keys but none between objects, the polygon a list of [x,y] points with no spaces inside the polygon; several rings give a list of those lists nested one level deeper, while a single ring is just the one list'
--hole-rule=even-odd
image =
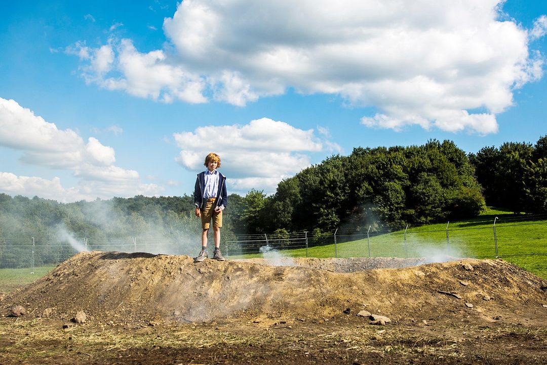
[{"label": "boy in navy jacket and tan shorts standing on the mound", "polygon": [[201,252],[196,262],[205,260],[207,255],[207,233],[213,221],[214,253],[213,259],[224,261],[220,253],[220,227],[222,227],[222,211],[228,205],[226,193],[226,177],[217,169],[220,167],[220,157],[211,152],[205,157],[207,170],[197,174],[194,187],[195,215],[201,217]]}]

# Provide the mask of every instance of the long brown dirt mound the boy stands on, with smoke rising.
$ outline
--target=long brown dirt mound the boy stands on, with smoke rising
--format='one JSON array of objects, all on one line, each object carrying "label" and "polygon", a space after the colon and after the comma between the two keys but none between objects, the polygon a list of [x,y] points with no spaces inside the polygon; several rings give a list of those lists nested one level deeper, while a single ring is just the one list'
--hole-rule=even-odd
[{"label": "long brown dirt mound the boy stands on, with smoke rising", "polygon": [[83,310],[88,321],[124,325],[305,320],[347,309],[351,314],[366,309],[395,323],[547,319],[545,282],[503,260],[409,266],[420,263],[298,258],[271,266],[259,259],[194,263],[188,256],[83,252],[8,294],[0,310],[7,315],[23,305],[27,316],[40,316],[49,308],[50,317],[65,320]]}]

